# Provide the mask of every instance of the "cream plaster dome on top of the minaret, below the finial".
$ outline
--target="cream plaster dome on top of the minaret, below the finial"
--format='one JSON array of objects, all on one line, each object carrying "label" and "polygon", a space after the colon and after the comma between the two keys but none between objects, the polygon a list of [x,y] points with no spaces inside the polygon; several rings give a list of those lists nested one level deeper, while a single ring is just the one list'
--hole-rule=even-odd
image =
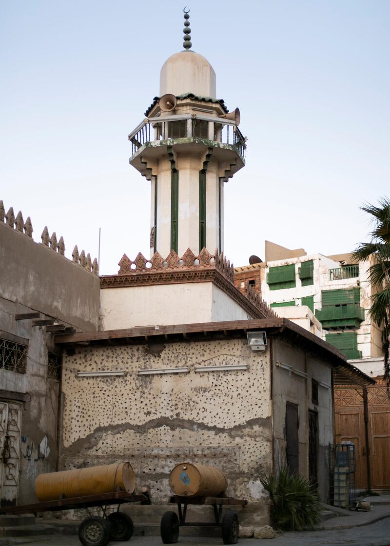
[{"label": "cream plaster dome on top of the minaret, below the finial", "polygon": [[194,51],[175,53],[160,72],[160,97],[184,93],[216,98],[216,76],[207,59]]}]

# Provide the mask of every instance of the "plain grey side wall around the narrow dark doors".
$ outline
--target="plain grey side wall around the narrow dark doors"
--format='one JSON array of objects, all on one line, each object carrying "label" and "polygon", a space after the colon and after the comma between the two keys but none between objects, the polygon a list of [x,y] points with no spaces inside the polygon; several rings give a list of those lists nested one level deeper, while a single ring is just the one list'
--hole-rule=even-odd
[{"label": "plain grey side wall around the narrow dark doors", "polygon": [[[299,351],[281,340],[273,340],[273,402],[275,468],[286,465],[286,403],[298,406],[299,473],[309,476],[308,411],[318,415],[317,479],[323,502],[329,496],[329,444],[333,443],[332,390],[318,385],[318,405],[312,403],[311,379],[332,384],[326,363]],[[276,366],[281,362],[307,373],[307,378]]]}]

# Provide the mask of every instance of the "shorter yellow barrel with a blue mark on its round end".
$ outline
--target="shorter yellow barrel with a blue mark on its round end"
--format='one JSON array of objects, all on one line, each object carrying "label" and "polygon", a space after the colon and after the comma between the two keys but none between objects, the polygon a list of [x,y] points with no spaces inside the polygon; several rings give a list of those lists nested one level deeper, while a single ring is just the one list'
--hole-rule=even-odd
[{"label": "shorter yellow barrel with a blue mark on its round end", "polygon": [[214,466],[182,462],[169,474],[169,486],[180,497],[216,497],[226,491],[227,479]]}]

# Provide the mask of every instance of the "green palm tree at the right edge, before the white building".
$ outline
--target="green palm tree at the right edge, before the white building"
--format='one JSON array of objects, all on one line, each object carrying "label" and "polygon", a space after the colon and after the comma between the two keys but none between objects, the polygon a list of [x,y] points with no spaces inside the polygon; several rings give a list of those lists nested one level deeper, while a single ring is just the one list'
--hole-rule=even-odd
[{"label": "green palm tree at the right edge, before the white building", "polygon": [[371,215],[374,229],[369,234],[371,242],[360,243],[352,256],[358,262],[369,260],[371,296],[369,317],[382,331],[383,356],[387,395],[390,397],[390,199],[383,197],[379,206],[369,203],[361,207]]}]

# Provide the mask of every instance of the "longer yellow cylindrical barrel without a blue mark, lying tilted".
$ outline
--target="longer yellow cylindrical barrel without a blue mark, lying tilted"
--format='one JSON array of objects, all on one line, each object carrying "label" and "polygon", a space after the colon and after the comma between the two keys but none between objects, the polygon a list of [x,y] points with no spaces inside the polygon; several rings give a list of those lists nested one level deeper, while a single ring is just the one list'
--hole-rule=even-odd
[{"label": "longer yellow cylindrical barrel without a blue mark, lying tilted", "polygon": [[129,462],[39,474],[35,480],[35,492],[40,502],[119,490],[132,493],[134,487],[135,474]]}]

